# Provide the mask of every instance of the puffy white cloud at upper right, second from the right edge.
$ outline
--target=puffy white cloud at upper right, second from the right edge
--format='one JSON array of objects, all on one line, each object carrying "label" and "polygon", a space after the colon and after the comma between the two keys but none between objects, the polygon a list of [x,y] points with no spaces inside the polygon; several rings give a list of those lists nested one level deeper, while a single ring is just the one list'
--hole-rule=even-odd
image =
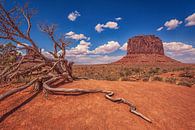
[{"label": "puffy white cloud at upper right, second from the right edge", "polygon": [[164,26],[167,27],[167,30],[173,30],[176,27],[178,27],[180,24],[182,24],[182,21],[179,21],[177,19],[171,19],[169,21],[166,21]]}]

